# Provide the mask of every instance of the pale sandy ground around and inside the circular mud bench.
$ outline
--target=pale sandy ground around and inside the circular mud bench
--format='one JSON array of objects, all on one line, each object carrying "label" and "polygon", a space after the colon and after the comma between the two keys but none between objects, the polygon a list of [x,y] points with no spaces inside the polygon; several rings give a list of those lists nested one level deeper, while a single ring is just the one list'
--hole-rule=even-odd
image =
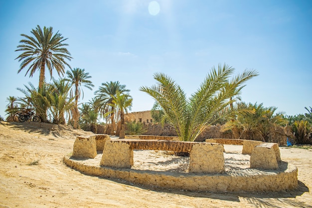
[{"label": "pale sandy ground around and inside the circular mud bench", "polygon": [[[62,158],[71,154],[76,136],[87,134],[43,123],[1,122],[0,208],[312,208],[311,149],[280,148],[282,160],[298,167],[297,190],[215,194],[85,176],[66,167]],[[240,150],[229,146],[227,151]],[[137,151],[134,168],[183,171],[185,160],[161,152]]]}]

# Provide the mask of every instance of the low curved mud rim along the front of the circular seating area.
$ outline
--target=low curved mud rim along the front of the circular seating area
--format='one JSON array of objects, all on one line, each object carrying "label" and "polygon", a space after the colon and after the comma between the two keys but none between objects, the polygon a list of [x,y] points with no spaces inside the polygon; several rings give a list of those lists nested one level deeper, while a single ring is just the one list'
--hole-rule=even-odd
[{"label": "low curved mud rim along the front of the circular seating area", "polygon": [[166,189],[207,192],[280,192],[298,186],[298,170],[291,164],[282,164],[277,171],[252,171],[237,174],[183,174],[159,173],[133,169],[115,169],[104,166],[88,166],[64,157],[64,163],[86,175],[126,180],[147,186]]}]

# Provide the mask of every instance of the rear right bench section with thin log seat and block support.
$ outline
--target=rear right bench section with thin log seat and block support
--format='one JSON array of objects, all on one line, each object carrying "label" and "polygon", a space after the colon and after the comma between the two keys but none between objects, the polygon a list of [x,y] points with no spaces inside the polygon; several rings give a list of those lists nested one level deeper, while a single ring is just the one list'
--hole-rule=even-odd
[{"label": "rear right bench section with thin log seat and block support", "polygon": [[255,146],[264,142],[244,139],[206,139],[206,142],[219,143],[224,145],[243,145],[242,154],[251,154]]}]

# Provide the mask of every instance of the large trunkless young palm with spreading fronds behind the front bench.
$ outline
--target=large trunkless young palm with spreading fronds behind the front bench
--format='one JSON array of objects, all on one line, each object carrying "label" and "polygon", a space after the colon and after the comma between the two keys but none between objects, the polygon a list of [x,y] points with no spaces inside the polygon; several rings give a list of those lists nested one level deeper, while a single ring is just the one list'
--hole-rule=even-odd
[{"label": "large trunkless young palm with spreading fronds behind the front bench", "polygon": [[164,118],[175,127],[181,141],[194,141],[207,125],[231,113],[226,107],[236,101],[235,96],[240,94],[243,84],[258,75],[255,70],[245,70],[230,79],[233,72],[234,68],[228,65],[219,65],[218,70],[213,67],[189,99],[181,87],[163,73],[154,74],[156,85],[140,90],[159,103]]}]

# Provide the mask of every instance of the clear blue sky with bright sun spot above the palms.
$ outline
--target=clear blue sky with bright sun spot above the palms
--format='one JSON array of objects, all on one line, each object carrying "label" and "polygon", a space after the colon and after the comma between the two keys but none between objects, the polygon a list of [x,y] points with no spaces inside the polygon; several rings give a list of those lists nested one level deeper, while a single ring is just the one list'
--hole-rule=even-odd
[{"label": "clear blue sky with bright sun spot above the palms", "polygon": [[22,95],[17,87],[38,86],[39,72],[17,74],[14,51],[36,25],[68,38],[69,64],[92,76],[94,90],[84,88],[81,102],[101,83],[120,81],[132,111],[150,110],[154,100],[139,87],[155,84],[155,72],[190,95],[212,66],[226,63],[260,74],[246,83],[243,101],[287,115],[312,106],[312,0],[0,0],[2,117],[6,98]]}]

